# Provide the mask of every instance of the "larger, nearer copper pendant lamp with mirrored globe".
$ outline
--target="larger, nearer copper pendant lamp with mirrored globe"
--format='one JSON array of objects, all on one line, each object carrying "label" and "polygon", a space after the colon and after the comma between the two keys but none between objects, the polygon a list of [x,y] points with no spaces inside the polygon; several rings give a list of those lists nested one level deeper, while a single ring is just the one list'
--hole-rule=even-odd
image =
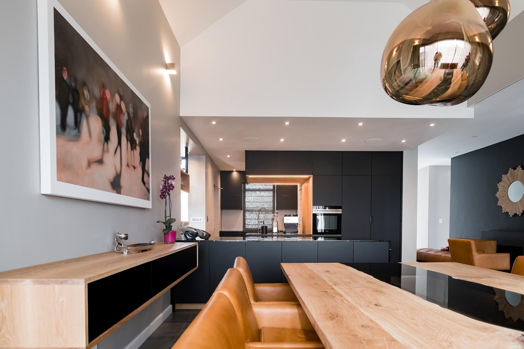
[{"label": "larger, nearer copper pendant lamp with mirrored globe", "polygon": [[433,0],[395,29],[380,78],[394,100],[450,106],[473,96],[487,78],[493,42],[470,0]]}]

